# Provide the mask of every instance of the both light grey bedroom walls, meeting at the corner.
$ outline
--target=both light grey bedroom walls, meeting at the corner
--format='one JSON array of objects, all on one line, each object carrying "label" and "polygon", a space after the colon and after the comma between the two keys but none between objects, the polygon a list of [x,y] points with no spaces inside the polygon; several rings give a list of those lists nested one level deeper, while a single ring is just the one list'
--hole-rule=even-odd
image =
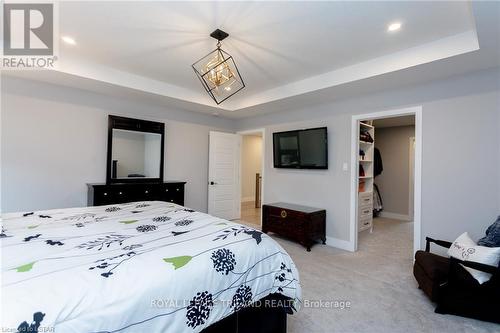
[{"label": "both light grey bedroom walls, meeting at the corner", "polygon": [[[329,169],[278,170],[264,153],[265,200],[327,209],[327,234],[349,240],[351,116],[423,106],[422,237],[478,238],[500,213],[499,72],[358,96],[237,122],[21,79],[2,82],[2,208],[81,206],[87,182],[104,181],[107,114],[166,123],[165,177],[188,181],[186,204],[206,211],[208,132],[328,126]],[[27,134],[29,133],[29,135]]]}]

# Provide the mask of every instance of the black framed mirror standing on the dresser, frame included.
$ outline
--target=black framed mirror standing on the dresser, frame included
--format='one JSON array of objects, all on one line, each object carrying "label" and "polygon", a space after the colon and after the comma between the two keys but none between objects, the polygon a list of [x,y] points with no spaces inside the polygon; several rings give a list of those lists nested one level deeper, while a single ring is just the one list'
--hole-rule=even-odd
[{"label": "black framed mirror standing on the dresser, frame included", "polygon": [[106,183],[163,182],[165,124],[108,117]]}]

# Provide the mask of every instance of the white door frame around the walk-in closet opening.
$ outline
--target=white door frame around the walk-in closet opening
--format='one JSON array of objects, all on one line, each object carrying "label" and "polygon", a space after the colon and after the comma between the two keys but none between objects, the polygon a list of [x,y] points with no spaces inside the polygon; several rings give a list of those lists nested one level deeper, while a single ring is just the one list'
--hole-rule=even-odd
[{"label": "white door frame around the walk-in closet opening", "polygon": [[358,250],[358,155],[359,155],[359,122],[398,116],[415,116],[415,180],[414,180],[414,218],[413,218],[413,251],[422,247],[421,210],[422,210],[422,106],[392,109],[379,112],[357,114],[351,120],[351,207],[349,226],[349,250]]}]

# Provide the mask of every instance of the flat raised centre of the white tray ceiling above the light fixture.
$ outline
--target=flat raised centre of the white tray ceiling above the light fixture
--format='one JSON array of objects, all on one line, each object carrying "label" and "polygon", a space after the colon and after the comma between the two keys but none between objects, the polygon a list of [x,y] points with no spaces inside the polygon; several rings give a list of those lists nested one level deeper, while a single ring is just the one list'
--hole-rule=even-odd
[{"label": "flat raised centre of the white tray ceiling above the light fixture", "polygon": [[[215,49],[208,35],[221,28],[247,84],[241,98],[474,27],[466,2],[67,2],[60,20],[78,41],[61,57],[203,93],[190,65]],[[386,32],[395,20],[404,33]]]}]

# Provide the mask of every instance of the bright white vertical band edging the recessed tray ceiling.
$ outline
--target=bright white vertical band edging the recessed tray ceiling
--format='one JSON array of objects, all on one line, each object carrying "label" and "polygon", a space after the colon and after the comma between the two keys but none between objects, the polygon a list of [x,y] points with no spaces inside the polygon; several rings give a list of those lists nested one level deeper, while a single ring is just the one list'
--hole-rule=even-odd
[{"label": "bright white vertical band edging the recessed tray ceiling", "polygon": [[291,82],[273,89],[266,89],[262,92],[252,94],[247,98],[243,98],[240,102],[231,101],[229,104],[223,104],[223,106],[215,106],[208,95],[198,92],[199,89],[186,89],[175,84],[155,80],[146,76],[117,70],[93,61],[68,59],[68,57],[60,57],[56,62],[56,67],[50,71],[50,75],[42,75],[39,71],[36,73],[23,72],[23,74],[10,71],[9,75],[29,75],[38,80],[42,77],[42,80],[50,82],[54,80],[52,77],[55,72],[59,74],[56,75],[57,77],[70,77],[70,81],[76,82],[73,84],[78,84],[78,86],[80,85],[78,78],[90,79],[93,80],[92,86],[97,85],[97,88],[101,90],[106,87],[125,87],[163,96],[173,101],[180,100],[184,103],[188,103],[188,105],[196,107],[197,110],[206,110],[208,108],[230,117],[231,111],[243,110],[321,89],[404,70],[406,68],[446,59],[455,55],[473,52],[478,49],[479,41],[477,33],[475,29],[471,29],[423,45],[372,58],[350,66],[337,68],[327,73]]}]

